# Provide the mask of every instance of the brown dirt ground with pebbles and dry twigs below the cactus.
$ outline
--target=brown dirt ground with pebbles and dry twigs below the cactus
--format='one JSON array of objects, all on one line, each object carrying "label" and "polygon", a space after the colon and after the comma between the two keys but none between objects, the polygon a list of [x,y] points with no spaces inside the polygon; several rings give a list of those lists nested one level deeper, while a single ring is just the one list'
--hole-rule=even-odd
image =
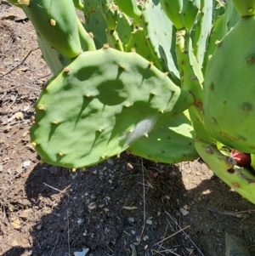
[{"label": "brown dirt ground with pebbles and dry twigs below the cactus", "polygon": [[41,164],[27,132],[48,77],[31,23],[2,2],[1,255],[221,256],[226,233],[255,255],[255,206],[201,159],[166,165],[123,152],[76,172]]}]

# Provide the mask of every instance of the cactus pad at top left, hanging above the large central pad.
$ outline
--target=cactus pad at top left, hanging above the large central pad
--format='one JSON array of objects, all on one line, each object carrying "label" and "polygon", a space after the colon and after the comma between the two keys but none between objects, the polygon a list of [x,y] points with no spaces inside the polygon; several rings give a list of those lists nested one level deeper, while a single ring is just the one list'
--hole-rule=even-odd
[{"label": "cactus pad at top left, hanging above the large central pad", "polygon": [[30,0],[27,3],[22,5],[27,17],[51,47],[67,58],[82,53],[77,14],[72,0],[65,0],[65,4],[48,0]]}]

